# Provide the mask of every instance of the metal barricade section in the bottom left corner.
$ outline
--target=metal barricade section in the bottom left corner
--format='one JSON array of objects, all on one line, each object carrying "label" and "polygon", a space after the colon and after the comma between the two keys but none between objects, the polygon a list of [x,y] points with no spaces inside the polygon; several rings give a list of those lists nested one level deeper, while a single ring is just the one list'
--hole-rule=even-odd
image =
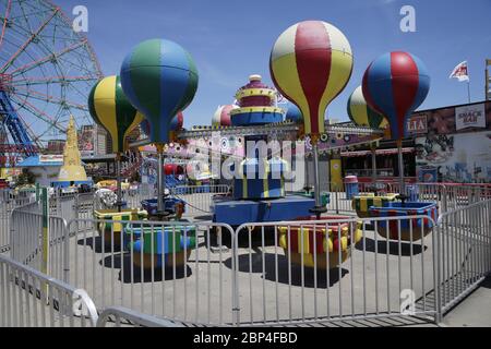
[{"label": "metal barricade section in the bottom left corner", "polygon": [[96,306],[84,290],[0,255],[0,327],[96,324]]}]

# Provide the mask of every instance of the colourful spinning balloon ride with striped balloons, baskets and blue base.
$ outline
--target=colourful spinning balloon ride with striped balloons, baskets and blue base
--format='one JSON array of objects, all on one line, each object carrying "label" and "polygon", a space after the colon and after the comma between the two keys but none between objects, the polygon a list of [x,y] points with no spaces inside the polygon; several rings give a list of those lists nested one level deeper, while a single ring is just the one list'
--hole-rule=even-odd
[{"label": "colourful spinning balloon ride with striped balloons, baskets and blue base", "polygon": [[[172,55],[161,55],[163,47]],[[292,71],[297,73],[292,74]],[[239,176],[233,179],[231,193],[214,197],[213,221],[232,227],[254,221],[312,221],[291,231],[289,228],[278,227],[278,243],[285,253],[290,254],[294,263],[315,266],[312,260],[312,249],[315,249],[319,256],[330,255],[325,258],[328,261],[326,264],[321,263],[316,267],[335,267],[349,257],[351,246],[361,239],[361,234],[359,226],[325,222],[315,225],[315,220],[320,219],[330,221],[343,218],[323,216],[326,207],[320,190],[319,149],[322,145],[333,149],[355,144],[376,144],[391,136],[397,141],[400,159],[402,139],[406,132],[405,119],[424,100],[430,77],[423,63],[415,56],[407,52],[386,53],[368,68],[362,86],[355,91],[348,101],[348,113],[355,125],[326,124],[324,115],[327,105],[339,95],[351,76],[352,55],[343,33],[321,21],[298,23],[279,36],[271,55],[271,72],[276,89],[264,85],[261,76],[251,75],[249,83],[236,94],[237,105],[219,107],[212,127],[194,127],[187,131],[172,127],[172,119],[189,106],[197,87],[197,71],[191,56],[178,44],[159,39],[142,43],[127,56],[121,68],[121,87],[131,104],[145,116],[147,123],[144,128],[149,133],[149,140],[136,145],[153,143],[158,153],[157,209],[149,219],[181,219],[180,215],[169,216],[166,212],[167,198],[164,196],[163,180],[166,144],[179,140],[209,139],[216,132],[223,136],[240,136],[244,144],[248,141],[304,140],[310,144],[314,161],[313,195],[309,192],[286,194],[285,173],[289,170],[289,164],[282,159],[280,154],[261,156],[246,148],[246,157],[240,164],[232,166],[232,171]],[[163,94],[165,91],[169,93]],[[285,111],[277,106],[278,92],[298,107],[292,107],[292,112],[286,120]],[[97,106],[100,100],[89,103]],[[384,130],[387,125],[390,130]],[[110,128],[107,129],[111,133]],[[339,137],[339,134],[347,136]],[[372,194],[355,196],[354,207],[358,208],[360,216],[422,215],[434,218],[436,206],[407,202],[403,177],[400,181],[400,194],[382,197],[374,189]],[[361,209],[369,202],[370,207]],[[108,214],[109,219],[113,219],[124,213],[119,208],[118,212]],[[127,219],[132,219],[131,215],[139,213],[128,214],[130,218]],[[395,236],[397,229],[393,229],[387,222],[386,226],[380,224],[378,231],[387,239],[416,241],[431,231],[430,220],[410,219],[410,222],[398,230],[398,237]],[[415,233],[412,227],[421,229]],[[106,225],[106,229],[110,227]],[[146,231],[145,227],[131,225],[125,231],[121,231],[125,236],[130,233],[145,237],[143,241],[137,239],[129,242],[137,253],[144,254],[142,260],[145,266],[158,264],[163,256],[171,253],[180,253],[173,263],[182,264],[189,256],[183,255],[182,251],[187,250],[189,253],[195,248],[195,241],[184,239],[188,232],[188,228],[179,226],[175,226],[172,231],[164,227],[158,231]],[[155,233],[157,238],[149,239],[151,233]],[[167,241],[176,233],[179,236],[178,245],[170,242],[163,244],[161,241]],[[316,236],[313,241],[318,241],[318,245],[309,248],[308,241],[312,234]],[[148,241],[157,244],[156,252],[152,252],[155,250],[147,245]],[[308,248],[299,241],[306,241]],[[320,260],[323,260],[322,256]]]}]

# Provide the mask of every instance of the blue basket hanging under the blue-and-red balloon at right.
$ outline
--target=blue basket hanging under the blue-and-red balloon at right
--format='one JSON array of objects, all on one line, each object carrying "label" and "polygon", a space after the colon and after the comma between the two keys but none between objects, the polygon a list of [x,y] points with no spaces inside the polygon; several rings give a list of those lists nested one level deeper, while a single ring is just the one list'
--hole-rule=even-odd
[{"label": "blue basket hanging under the blue-and-red balloon at right", "polygon": [[[435,203],[408,202],[388,203],[384,207],[370,207],[370,217],[412,217],[427,216],[428,218],[406,218],[394,220],[378,220],[378,233],[391,240],[418,241],[431,233],[438,220],[439,212]],[[400,229],[399,229],[400,222]]]}]

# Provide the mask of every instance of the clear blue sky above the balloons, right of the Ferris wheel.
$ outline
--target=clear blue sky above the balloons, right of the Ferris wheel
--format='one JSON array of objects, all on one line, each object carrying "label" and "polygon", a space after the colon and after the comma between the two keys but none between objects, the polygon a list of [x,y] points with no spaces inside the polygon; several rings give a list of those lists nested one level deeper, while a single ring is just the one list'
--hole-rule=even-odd
[{"label": "clear blue sky above the balloons, right of the Ferris wheel", "polygon": [[[276,38],[290,25],[322,20],[351,44],[355,70],[327,117],[347,120],[346,101],[368,64],[391,50],[421,58],[432,77],[428,109],[467,103],[466,83],[448,80],[469,62],[472,101],[484,99],[484,59],[491,58],[491,0],[58,0],[71,14],[77,4],[89,15],[87,36],[104,73],[119,73],[131,48],[148,38],[167,38],[193,56],[200,86],[184,111],[184,125],[209,124],[218,105],[230,104],[250,74],[273,85],[268,59]],[[403,33],[400,8],[416,9],[416,33]]]}]

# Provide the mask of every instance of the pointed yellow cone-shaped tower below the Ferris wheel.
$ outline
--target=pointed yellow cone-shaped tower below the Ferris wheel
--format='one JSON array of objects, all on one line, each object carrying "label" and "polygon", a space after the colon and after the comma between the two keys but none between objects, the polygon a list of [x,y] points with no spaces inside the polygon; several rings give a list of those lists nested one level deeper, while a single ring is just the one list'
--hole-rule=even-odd
[{"label": "pointed yellow cone-shaped tower below the Ferris wheel", "polygon": [[67,130],[67,143],[63,152],[63,166],[58,174],[60,182],[83,182],[87,180],[87,174],[83,168],[80,151],[79,137],[76,136],[75,120],[70,118]]}]

